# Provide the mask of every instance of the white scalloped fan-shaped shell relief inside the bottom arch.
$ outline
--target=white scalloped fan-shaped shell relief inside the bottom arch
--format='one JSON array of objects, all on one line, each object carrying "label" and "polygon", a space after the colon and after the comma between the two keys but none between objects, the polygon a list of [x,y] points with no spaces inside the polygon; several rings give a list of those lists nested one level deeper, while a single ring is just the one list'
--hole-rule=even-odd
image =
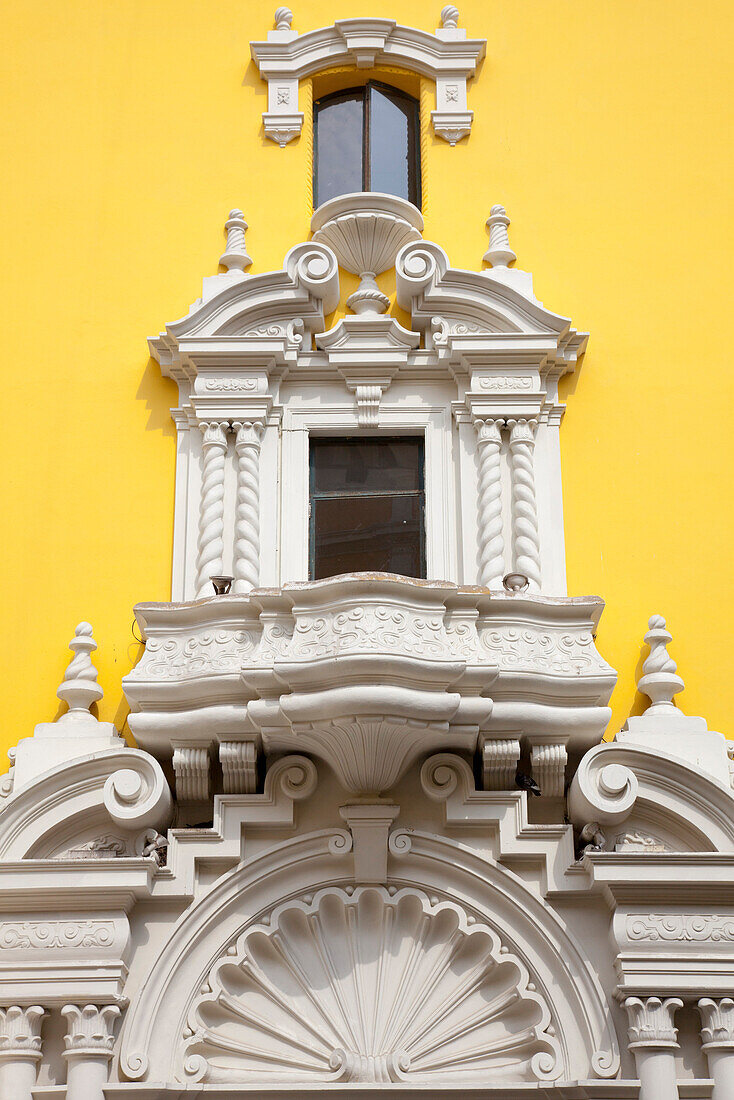
[{"label": "white scalloped fan-shaped shell relief inside the bottom arch", "polygon": [[415,889],[330,888],[250,926],[184,1034],[186,1079],[554,1080],[551,1012],[487,925]]}]

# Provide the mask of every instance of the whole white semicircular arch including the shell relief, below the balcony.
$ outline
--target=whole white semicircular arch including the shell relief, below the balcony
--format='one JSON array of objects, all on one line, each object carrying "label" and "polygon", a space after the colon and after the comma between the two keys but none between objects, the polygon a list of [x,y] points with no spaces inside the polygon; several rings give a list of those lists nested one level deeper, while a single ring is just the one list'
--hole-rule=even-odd
[{"label": "whole white semicircular arch including the shell relief, below the balcony", "polygon": [[349,848],[339,829],[286,842],[188,910],[129,1010],[129,1078],[425,1086],[614,1076],[596,979],[514,875],[410,833],[391,845],[386,887],[361,888]]}]

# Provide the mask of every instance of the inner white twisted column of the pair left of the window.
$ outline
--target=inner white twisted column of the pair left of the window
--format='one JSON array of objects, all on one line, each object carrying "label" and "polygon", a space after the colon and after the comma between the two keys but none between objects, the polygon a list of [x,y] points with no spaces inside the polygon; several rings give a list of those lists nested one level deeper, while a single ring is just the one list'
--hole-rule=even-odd
[{"label": "inner white twisted column of the pair left of the window", "polygon": [[260,420],[232,425],[237,431],[237,512],[234,517],[234,592],[260,583]]}]

